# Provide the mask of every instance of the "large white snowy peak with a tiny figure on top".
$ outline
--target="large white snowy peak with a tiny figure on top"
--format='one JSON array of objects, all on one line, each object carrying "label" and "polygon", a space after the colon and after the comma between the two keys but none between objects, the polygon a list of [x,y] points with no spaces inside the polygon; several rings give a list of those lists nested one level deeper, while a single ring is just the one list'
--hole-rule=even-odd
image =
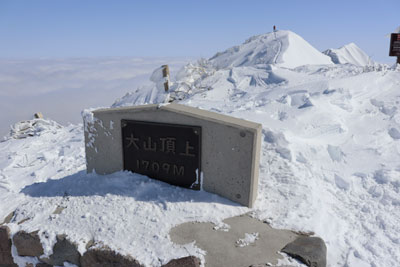
[{"label": "large white snowy peak with a tiny figure on top", "polygon": [[221,68],[276,64],[285,68],[331,64],[331,59],[291,31],[277,31],[251,37],[240,46],[217,53],[210,59]]}]

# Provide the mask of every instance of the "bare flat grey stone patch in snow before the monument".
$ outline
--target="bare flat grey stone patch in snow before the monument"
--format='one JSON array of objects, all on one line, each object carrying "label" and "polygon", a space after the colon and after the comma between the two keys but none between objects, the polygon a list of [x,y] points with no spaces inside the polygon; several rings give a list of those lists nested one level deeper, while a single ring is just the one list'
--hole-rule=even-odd
[{"label": "bare flat grey stone patch in snow before the monument", "polygon": [[[244,267],[253,264],[277,264],[282,258],[278,252],[296,239],[292,231],[277,230],[268,224],[249,217],[237,216],[224,221],[230,226],[228,231],[214,230],[211,223],[184,223],[171,229],[174,243],[188,244],[196,241],[196,246],[205,250],[205,266]],[[258,240],[244,247],[237,241],[245,234],[258,233]]]}]

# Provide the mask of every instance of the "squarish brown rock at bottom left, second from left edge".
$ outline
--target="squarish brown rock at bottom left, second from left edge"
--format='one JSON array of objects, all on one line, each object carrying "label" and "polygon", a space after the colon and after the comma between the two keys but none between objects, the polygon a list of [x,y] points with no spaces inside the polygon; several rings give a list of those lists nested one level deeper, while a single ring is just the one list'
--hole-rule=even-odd
[{"label": "squarish brown rock at bottom left, second from left edge", "polygon": [[20,231],[14,235],[13,241],[20,256],[38,257],[44,253],[37,232]]}]

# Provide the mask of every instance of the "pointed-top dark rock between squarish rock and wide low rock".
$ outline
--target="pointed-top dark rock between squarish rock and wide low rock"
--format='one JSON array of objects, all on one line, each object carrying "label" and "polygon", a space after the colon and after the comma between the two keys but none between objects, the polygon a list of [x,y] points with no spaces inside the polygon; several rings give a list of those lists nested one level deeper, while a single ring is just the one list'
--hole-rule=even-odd
[{"label": "pointed-top dark rock between squarish rock and wide low rock", "polygon": [[41,258],[40,260],[50,265],[64,265],[64,262],[80,265],[81,255],[76,246],[71,243],[65,235],[57,236],[57,243],[54,245],[53,254],[50,258]]}]

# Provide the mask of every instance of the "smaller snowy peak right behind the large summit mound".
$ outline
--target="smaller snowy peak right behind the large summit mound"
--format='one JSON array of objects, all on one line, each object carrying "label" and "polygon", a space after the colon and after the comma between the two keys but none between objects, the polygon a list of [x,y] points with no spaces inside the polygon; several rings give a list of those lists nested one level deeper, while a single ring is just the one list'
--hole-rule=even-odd
[{"label": "smaller snowy peak right behind the large summit mound", "polygon": [[323,52],[329,56],[335,64],[353,64],[356,66],[368,66],[373,62],[371,58],[355,43],[342,46],[339,49],[328,49]]}]

